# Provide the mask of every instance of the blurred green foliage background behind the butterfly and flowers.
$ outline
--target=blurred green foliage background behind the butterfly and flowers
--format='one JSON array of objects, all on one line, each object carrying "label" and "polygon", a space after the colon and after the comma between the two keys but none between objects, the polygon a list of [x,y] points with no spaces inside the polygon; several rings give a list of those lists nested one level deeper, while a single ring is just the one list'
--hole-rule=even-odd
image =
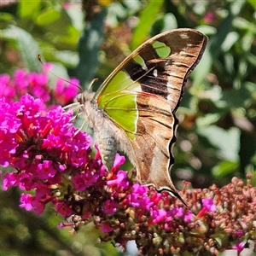
[{"label": "blurred green foliage background behind the butterfly and flowers", "polygon": [[[190,75],[181,107],[172,177],[193,187],[256,182],[256,3],[245,1],[26,1],[0,5],[1,73],[40,71],[77,77],[94,90],[132,49],[177,27],[204,32],[209,44]],[[82,8],[81,8],[82,7]],[[254,184],[255,185],[255,184]],[[18,206],[15,189],[1,193],[0,255],[117,255],[97,243],[90,226],[70,236],[52,211],[38,217]],[[35,253],[36,252],[36,253]]]}]

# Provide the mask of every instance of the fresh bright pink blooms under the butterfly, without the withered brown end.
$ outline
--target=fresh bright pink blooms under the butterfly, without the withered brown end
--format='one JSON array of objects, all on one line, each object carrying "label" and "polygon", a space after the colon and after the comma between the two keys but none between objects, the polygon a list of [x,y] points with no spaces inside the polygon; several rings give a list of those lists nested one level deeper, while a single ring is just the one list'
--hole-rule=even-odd
[{"label": "fresh bright pink blooms under the butterfly, without the withered brown end", "polygon": [[[59,107],[44,115],[43,107],[41,100],[30,95],[14,103],[0,99],[0,164],[16,170],[6,173],[3,189],[19,186],[26,191],[35,190],[35,195],[21,195],[20,207],[41,213],[46,203],[52,202],[56,212],[67,218],[78,213],[73,211],[74,202],[86,204],[90,194],[104,199],[91,201],[91,209],[84,210],[82,206],[86,218],[128,207],[134,207],[138,220],[148,211],[152,224],[184,216],[182,208],[159,209],[160,201],[167,195],[154,191],[148,196],[147,187],[133,184],[127,172],[119,171],[125,162],[123,156],[117,154],[112,172],[106,172],[100,155],[90,156],[91,137],[70,122],[72,111]],[[108,218],[102,219],[102,223],[110,224]]]}]

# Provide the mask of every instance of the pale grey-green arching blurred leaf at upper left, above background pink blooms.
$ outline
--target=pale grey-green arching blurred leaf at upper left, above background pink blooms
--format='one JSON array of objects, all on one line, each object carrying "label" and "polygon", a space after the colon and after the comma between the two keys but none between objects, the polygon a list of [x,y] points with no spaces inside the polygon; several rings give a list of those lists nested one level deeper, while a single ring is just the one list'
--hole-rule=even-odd
[{"label": "pale grey-green arching blurred leaf at upper left, above background pink blooms", "polygon": [[15,40],[22,60],[26,63],[26,67],[30,71],[40,72],[41,64],[38,61],[40,49],[30,33],[18,26],[9,26],[3,30],[3,38]]}]

